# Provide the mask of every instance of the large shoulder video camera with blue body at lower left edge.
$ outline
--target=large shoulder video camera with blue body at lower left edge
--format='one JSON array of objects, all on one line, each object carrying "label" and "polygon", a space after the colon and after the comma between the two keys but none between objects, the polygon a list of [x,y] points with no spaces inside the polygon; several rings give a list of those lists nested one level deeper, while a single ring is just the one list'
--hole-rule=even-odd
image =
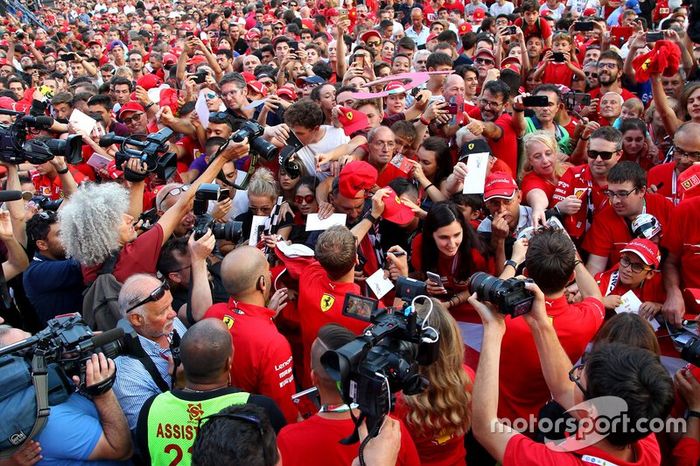
[{"label": "large shoulder video camera with blue body at lower left edge", "polygon": [[121,328],[93,334],[76,313],[51,319],[36,335],[0,349],[0,457],[12,455],[41,431],[49,405],[73,393],[72,376],[80,378],[78,387],[87,395],[109,390],[114,378],[85,386],[85,364],[95,353],[121,354],[123,337]]}]

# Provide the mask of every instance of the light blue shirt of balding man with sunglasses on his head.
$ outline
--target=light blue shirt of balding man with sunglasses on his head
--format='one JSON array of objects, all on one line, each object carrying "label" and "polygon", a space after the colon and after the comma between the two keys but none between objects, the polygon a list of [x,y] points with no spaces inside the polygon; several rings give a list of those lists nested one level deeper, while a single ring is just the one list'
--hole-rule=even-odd
[{"label": "light blue shirt of balding man with sunglasses on his head", "polygon": [[[177,330],[180,337],[187,331],[187,328],[177,317],[173,323],[173,328]],[[138,337],[141,347],[153,360],[160,376],[163,377],[165,383],[170,385],[172,380],[170,374],[168,374],[170,349],[161,348],[158,342],[149,340],[141,335]],[[161,391],[151,374],[148,373],[138,359],[129,356],[119,356],[114,360],[114,364],[117,366],[117,379],[114,381],[112,389],[126,415],[129,429],[133,431],[136,429],[139,412],[141,412],[143,404],[153,395],[159,395]],[[182,370],[182,367],[180,367],[180,370]]]}]

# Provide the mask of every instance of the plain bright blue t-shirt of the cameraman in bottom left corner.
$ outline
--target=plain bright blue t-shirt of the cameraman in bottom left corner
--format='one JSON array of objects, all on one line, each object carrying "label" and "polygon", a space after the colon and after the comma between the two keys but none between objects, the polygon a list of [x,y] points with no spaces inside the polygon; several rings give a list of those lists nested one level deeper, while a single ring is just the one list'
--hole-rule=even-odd
[{"label": "plain bright blue t-shirt of the cameraman in bottom left corner", "polygon": [[123,465],[122,461],[89,461],[102,436],[95,404],[74,393],[65,403],[51,407],[46,426],[36,438],[44,457],[39,465]]}]

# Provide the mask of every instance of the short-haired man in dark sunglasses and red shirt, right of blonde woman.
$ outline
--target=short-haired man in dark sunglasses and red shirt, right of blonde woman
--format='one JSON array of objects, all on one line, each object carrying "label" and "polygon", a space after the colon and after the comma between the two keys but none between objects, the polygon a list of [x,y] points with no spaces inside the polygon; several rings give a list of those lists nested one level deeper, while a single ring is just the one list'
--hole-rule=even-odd
[{"label": "short-haired man in dark sunglasses and red shirt, right of blonde woman", "polygon": [[588,144],[588,163],[570,167],[559,178],[554,200],[564,215],[564,228],[575,240],[581,240],[593,221],[608,202],[603,193],[608,187],[608,172],[622,155],[622,134],[610,126],[591,133]]}]

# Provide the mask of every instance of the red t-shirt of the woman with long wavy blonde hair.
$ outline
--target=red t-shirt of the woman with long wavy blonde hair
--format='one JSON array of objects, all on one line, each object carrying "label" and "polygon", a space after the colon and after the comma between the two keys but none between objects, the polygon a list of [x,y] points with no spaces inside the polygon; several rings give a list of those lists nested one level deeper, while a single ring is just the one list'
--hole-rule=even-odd
[{"label": "red t-shirt of the woman with long wavy blonde hair", "polygon": [[[469,377],[469,386],[466,391],[471,393],[474,383],[474,370],[464,365],[464,371]],[[426,435],[422,432],[414,432],[406,419],[408,418],[409,407],[406,405],[403,393],[396,396],[396,408],[394,415],[406,422],[406,428],[416,443],[418,455],[423,466],[457,466],[464,465],[467,454],[464,448],[464,435],[444,435],[441,432],[433,432]]]}]

